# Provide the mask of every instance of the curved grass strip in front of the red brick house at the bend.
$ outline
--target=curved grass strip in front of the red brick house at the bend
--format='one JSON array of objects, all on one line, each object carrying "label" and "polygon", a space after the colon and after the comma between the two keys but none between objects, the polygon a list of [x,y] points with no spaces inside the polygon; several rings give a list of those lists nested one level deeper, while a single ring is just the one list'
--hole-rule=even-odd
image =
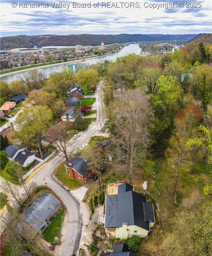
[{"label": "curved grass strip in front of the red brick house at the bend", "polygon": [[78,180],[71,179],[65,171],[65,164],[66,162],[63,162],[56,170],[55,174],[58,180],[60,180],[63,184],[65,184],[69,188],[77,188],[82,183]]}]

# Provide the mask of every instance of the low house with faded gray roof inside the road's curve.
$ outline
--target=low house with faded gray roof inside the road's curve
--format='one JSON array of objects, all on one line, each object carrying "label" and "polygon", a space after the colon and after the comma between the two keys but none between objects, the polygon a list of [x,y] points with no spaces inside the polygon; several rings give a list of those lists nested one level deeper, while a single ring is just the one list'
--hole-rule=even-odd
[{"label": "low house with faded gray roof inside the road's curve", "polygon": [[61,202],[50,193],[41,194],[22,214],[18,224],[20,233],[25,233],[26,226],[35,233],[42,233],[51,223],[51,217],[60,209]]}]

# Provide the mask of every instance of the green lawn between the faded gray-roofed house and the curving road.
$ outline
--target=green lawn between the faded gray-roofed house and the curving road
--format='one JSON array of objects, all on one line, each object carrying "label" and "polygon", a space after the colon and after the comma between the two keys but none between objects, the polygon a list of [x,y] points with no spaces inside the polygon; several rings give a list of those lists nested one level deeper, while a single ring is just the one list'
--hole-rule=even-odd
[{"label": "green lawn between the faded gray-roofed house and the curving road", "polygon": [[43,233],[44,239],[47,242],[54,243],[54,242],[56,242],[56,241],[54,241],[54,238],[59,237],[59,231],[60,231],[60,226],[62,223],[64,211],[65,211],[65,209],[62,206],[59,213],[56,215],[56,217],[54,217],[53,219],[50,219],[51,223]]}]

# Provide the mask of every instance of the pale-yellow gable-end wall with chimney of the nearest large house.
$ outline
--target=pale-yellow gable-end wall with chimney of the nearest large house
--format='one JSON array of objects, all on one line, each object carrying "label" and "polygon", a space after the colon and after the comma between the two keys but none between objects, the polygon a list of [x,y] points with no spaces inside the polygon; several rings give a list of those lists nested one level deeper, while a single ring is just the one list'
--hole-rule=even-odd
[{"label": "pale-yellow gable-end wall with chimney of the nearest large house", "polygon": [[[138,230],[138,232],[134,233],[134,230]],[[126,231],[124,231],[122,227],[117,228],[116,229],[116,238],[127,239],[127,238],[132,237],[133,235],[140,236],[140,237],[146,237],[148,235],[148,233],[149,233],[148,230],[140,228],[135,225],[132,225],[132,226],[127,226]]]}]

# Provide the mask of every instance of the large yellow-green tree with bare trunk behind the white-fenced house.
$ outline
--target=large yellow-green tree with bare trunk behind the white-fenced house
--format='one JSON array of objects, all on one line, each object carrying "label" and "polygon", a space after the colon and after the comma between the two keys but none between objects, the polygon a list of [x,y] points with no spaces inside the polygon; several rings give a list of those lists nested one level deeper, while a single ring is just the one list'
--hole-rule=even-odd
[{"label": "large yellow-green tree with bare trunk behind the white-fenced house", "polygon": [[42,159],[41,140],[52,117],[52,111],[47,106],[30,106],[24,108],[22,114],[16,119],[16,124],[20,130],[18,137],[25,143],[37,144]]}]

